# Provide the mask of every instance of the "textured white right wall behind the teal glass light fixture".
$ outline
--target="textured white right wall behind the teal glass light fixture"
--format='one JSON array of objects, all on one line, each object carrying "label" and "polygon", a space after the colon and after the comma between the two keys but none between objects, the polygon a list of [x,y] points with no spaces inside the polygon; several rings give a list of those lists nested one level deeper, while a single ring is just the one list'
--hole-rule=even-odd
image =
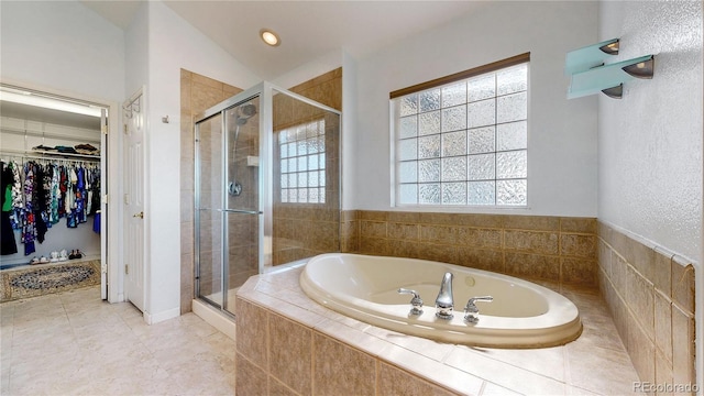
[{"label": "textured white right wall behind the teal glass light fixture", "polygon": [[[652,80],[600,98],[598,218],[702,267],[702,2],[603,2],[600,37],[620,37],[618,58],[654,54]],[[696,304],[700,393],[704,310]]]}]

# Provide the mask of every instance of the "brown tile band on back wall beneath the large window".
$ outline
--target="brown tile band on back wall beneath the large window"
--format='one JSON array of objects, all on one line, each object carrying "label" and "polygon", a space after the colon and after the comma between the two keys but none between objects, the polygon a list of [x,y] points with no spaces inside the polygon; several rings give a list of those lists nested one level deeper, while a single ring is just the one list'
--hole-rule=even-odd
[{"label": "brown tile band on back wall beneath the large window", "polygon": [[597,286],[596,219],[350,210],[342,251]]}]

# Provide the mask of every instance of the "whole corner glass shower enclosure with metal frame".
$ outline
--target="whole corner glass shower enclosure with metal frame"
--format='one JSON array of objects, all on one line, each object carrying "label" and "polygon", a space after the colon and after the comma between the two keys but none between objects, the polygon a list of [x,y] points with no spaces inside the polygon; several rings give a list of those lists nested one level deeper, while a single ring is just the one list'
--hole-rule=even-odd
[{"label": "whole corner glass shower enclosure with metal frame", "polygon": [[340,250],[341,113],[262,82],[195,120],[195,294]]}]

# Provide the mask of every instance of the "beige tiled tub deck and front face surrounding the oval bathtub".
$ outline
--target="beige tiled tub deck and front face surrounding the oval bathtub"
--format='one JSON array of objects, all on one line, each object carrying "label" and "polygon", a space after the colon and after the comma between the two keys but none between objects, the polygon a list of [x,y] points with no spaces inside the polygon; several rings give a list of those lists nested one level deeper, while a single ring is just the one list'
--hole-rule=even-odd
[{"label": "beige tiled tub deck and front face surrounding the oval bathtub", "polygon": [[[595,288],[542,283],[579,307],[582,336],[507,350],[440,343],[327,309],[301,267],[257,275],[238,293],[238,395],[637,394],[636,370]],[[246,380],[243,380],[246,378]]]}]

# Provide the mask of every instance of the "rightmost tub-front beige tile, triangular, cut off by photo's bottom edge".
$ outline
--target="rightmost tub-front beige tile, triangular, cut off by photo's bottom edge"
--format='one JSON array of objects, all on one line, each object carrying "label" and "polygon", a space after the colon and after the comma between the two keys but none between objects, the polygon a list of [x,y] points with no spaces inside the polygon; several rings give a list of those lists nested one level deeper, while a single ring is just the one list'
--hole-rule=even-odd
[{"label": "rightmost tub-front beige tile, triangular, cut off by photo's bottom edge", "polygon": [[450,396],[454,395],[437,385],[409,375],[386,363],[378,365],[377,395]]}]

